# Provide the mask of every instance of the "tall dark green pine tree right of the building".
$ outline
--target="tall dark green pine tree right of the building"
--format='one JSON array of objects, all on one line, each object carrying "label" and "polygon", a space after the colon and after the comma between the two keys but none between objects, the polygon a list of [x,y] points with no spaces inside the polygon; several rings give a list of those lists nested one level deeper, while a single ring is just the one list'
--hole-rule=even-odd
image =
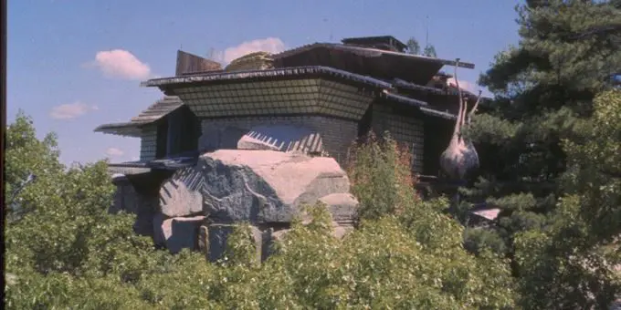
[{"label": "tall dark green pine tree right of the building", "polygon": [[[521,40],[500,53],[479,83],[495,95],[467,134],[478,144],[481,176],[465,189],[471,202],[501,209],[499,233],[510,257],[516,233],[550,225],[566,191],[562,140],[578,140],[596,94],[614,88],[621,68],[619,1],[526,1]],[[467,206],[462,205],[462,208]],[[513,261],[514,274],[520,275]]]}]

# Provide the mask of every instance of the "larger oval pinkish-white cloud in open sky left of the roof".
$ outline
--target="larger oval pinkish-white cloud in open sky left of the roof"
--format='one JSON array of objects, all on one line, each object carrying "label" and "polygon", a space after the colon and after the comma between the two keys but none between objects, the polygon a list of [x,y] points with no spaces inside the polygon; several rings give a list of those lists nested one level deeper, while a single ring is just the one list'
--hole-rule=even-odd
[{"label": "larger oval pinkish-white cloud in open sky left of the roof", "polygon": [[108,78],[141,80],[151,76],[151,67],[124,49],[100,51],[87,66],[99,67]]}]

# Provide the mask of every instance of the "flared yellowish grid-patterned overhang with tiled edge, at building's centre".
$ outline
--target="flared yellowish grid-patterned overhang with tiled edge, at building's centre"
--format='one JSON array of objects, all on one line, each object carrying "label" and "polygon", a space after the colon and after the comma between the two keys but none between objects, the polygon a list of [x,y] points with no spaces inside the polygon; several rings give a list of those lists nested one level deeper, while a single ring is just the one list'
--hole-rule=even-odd
[{"label": "flared yellowish grid-patterned overhang with tiled edge, at building's centre", "polygon": [[361,119],[392,85],[332,67],[287,67],[156,78],[142,83],[181,98],[201,118],[322,114]]}]

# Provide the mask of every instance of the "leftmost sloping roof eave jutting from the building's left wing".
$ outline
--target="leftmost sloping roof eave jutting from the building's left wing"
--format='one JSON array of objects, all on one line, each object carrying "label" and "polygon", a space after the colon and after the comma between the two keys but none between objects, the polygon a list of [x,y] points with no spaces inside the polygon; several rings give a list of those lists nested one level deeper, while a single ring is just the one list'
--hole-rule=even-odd
[{"label": "leftmost sloping roof eave jutting from the building's left wing", "polygon": [[184,102],[180,98],[166,96],[157,100],[153,105],[143,110],[138,116],[133,117],[129,122],[103,124],[94,131],[124,137],[140,138],[143,126],[153,124],[172,113],[174,110],[181,108],[183,105]]}]

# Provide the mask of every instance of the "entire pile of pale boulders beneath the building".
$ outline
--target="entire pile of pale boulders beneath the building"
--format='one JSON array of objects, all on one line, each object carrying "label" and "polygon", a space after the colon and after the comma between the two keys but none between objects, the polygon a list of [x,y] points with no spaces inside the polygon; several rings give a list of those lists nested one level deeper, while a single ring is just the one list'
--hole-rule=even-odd
[{"label": "entire pile of pale boulders beneath the building", "polygon": [[325,203],[336,236],[351,230],[358,202],[349,191],[345,171],[332,158],[277,150],[216,150],[163,183],[155,241],[173,252],[194,246],[215,261],[224,253],[232,225],[245,222],[252,226],[258,255],[264,259],[270,244],[287,232],[304,205]]}]

